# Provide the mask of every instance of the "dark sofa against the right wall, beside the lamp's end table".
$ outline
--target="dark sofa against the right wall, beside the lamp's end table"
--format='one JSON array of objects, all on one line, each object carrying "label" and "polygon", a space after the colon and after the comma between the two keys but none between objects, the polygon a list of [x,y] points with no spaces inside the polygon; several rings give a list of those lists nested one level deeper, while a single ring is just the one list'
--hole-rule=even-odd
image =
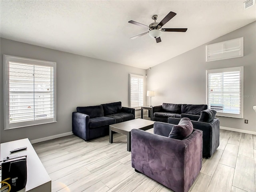
[{"label": "dark sofa against the right wall, beside the lamp's end table", "polygon": [[152,107],[153,121],[168,122],[169,117],[181,118],[181,114],[200,115],[200,112],[206,110],[208,106],[192,104],[172,104],[163,103]]}]

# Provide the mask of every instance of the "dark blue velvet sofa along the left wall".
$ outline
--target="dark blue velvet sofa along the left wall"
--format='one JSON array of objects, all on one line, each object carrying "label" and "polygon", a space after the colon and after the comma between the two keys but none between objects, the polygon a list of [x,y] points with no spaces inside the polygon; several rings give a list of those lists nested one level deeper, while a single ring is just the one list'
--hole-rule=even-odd
[{"label": "dark blue velvet sofa along the left wall", "polygon": [[135,118],[135,109],[121,102],[77,107],[72,113],[72,132],[88,141],[109,134],[109,125]]}]

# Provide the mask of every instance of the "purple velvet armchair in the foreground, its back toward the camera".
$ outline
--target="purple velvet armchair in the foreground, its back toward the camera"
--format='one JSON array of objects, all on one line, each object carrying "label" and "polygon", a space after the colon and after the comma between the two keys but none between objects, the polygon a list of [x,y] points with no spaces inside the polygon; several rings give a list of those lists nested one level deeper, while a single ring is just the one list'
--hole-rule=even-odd
[{"label": "purple velvet armchair in the foreground, its back toward the camera", "polygon": [[187,192],[202,168],[202,131],[168,138],[174,125],[155,122],[154,134],[131,131],[132,167],[175,192]]}]

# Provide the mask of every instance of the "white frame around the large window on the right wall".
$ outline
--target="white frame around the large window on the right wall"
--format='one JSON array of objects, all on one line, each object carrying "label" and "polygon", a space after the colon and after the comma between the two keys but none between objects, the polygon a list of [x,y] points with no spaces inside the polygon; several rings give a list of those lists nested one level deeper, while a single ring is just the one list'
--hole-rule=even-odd
[{"label": "white frame around the large window on the right wall", "polygon": [[209,76],[208,76],[208,74],[232,72],[232,71],[240,71],[240,114],[217,112],[216,116],[244,118],[244,97],[243,97],[243,95],[244,95],[244,66],[206,70],[206,104],[208,105],[208,108],[210,109],[210,106],[208,103],[208,96],[209,96],[209,85],[208,85]]}]

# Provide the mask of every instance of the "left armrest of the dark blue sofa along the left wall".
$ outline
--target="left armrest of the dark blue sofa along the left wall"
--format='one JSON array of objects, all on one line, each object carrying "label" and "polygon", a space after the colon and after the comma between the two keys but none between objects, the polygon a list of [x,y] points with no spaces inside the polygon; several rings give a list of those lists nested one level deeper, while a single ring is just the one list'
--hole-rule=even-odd
[{"label": "left armrest of the dark blue sofa along the left wall", "polygon": [[89,136],[89,116],[79,112],[72,113],[72,132],[87,140]]}]

